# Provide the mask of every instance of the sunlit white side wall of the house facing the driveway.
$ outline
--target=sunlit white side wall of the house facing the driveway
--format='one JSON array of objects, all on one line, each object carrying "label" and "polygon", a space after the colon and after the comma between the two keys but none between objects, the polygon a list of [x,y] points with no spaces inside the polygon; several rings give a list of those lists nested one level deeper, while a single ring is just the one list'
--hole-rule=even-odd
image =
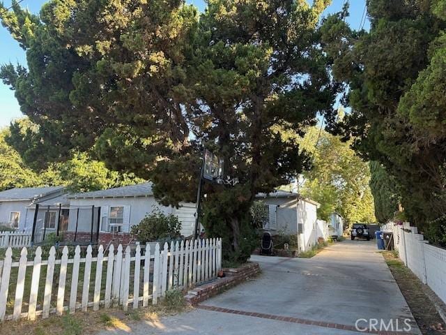
[{"label": "sunlit white side wall of the house facing the driveway", "polygon": [[312,202],[299,200],[298,202],[298,223],[302,227],[300,231],[300,249],[306,251],[318,241],[317,232],[317,206]]}]

